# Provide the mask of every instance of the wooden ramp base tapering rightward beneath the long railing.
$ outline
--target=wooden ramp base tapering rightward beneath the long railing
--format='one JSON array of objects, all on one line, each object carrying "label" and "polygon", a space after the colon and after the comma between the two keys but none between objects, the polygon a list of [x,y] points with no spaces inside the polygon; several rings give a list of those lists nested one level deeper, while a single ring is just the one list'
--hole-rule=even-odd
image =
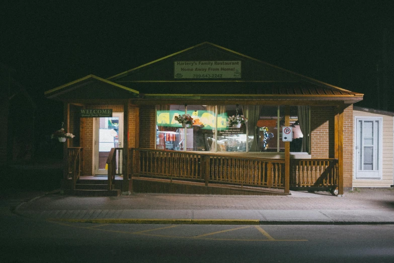
[{"label": "wooden ramp base tapering rightward beneath the long railing", "polygon": [[150,177],[133,177],[133,192],[224,194],[224,195],[289,195],[281,189],[237,186]]}]

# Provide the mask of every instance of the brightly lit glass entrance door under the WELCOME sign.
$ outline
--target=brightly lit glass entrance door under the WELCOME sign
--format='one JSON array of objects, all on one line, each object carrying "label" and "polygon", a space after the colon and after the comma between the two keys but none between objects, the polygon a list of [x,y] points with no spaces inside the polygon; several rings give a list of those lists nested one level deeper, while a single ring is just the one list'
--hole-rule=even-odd
[{"label": "brightly lit glass entrance door under the WELCOME sign", "polygon": [[95,118],[95,174],[108,174],[107,158],[111,148],[123,147],[123,113]]}]

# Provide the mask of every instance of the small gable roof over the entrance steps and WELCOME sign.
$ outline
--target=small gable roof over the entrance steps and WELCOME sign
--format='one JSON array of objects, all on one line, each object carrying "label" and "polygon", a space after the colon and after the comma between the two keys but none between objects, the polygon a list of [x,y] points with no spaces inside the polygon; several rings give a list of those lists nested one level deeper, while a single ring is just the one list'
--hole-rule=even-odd
[{"label": "small gable roof over the entrance steps and WELCOME sign", "polygon": [[117,99],[135,97],[139,92],[118,83],[88,75],[44,93],[47,98],[56,99]]}]

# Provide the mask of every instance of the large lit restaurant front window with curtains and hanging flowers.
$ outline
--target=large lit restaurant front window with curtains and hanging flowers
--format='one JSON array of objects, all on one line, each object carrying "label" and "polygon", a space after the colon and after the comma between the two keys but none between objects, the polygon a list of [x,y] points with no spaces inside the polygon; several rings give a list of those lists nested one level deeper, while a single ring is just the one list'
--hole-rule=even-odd
[{"label": "large lit restaurant front window with curtains and hanging flowers", "polygon": [[[293,127],[291,152],[307,152],[298,118],[301,112],[308,130],[308,107],[290,107]],[[300,111],[301,110],[301,111]],[[189,114],[194,124],[183,127],[175,117]],[[237,125],[236,116],[242,118]],[[284,106],[264,105],[158,105],[156,148],[176,151],[280,152],[284,151]],[[244,121],[247,118],[247,121]]]}]

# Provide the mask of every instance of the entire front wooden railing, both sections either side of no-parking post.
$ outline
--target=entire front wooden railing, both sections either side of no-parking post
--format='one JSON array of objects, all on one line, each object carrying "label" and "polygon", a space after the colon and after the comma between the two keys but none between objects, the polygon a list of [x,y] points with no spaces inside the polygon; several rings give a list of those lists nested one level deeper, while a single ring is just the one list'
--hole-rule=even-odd
[{"label": "entire front wooden railing, both sections either side of no-parking post", "polygon": [[[129,149],[131,176],[176,178],[208,183],[284,188],[283,159],[233,156],[220,153]],[[338,159],[291,159],[292,188],[338,185]]]}]

